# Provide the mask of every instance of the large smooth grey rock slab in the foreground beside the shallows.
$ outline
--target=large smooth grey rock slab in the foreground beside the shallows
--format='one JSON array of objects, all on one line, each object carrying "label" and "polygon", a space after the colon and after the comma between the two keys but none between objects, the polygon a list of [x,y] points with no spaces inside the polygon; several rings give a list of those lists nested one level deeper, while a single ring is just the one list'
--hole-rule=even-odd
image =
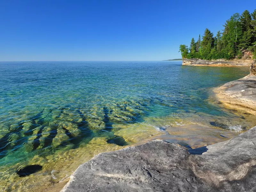
[{"label": "large smooth grey rock slab in the foreground beside the shallows", "polygon": [[256,191],[256,126],[202,155],[163,140],[101,153],[80,165],[62,192]]}]

